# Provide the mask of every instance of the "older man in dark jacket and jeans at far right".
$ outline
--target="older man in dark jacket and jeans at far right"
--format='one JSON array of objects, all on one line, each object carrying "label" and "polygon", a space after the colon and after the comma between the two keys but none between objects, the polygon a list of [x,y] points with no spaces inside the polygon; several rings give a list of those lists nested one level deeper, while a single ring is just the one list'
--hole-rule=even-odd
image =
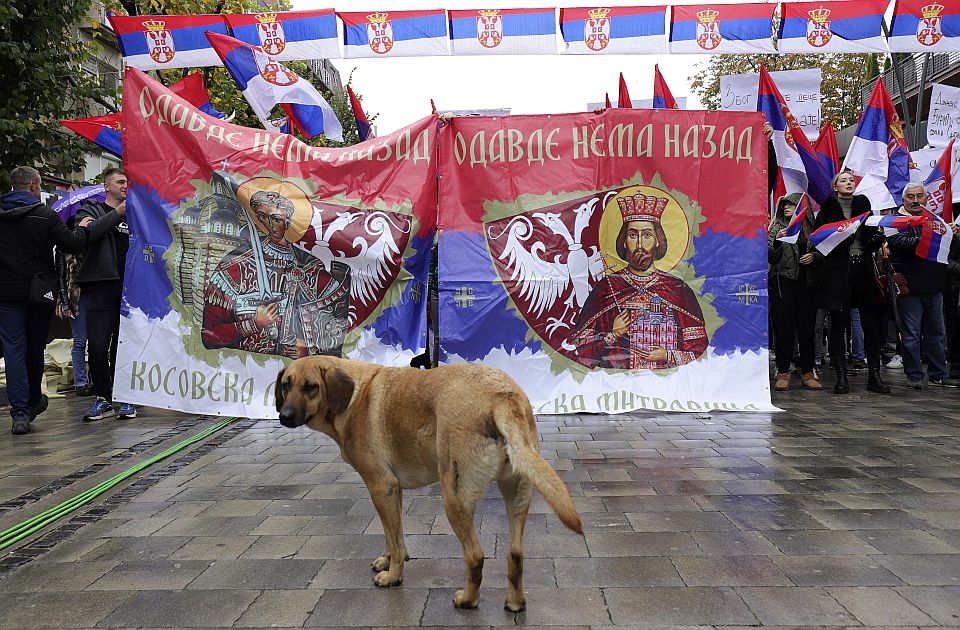
[{"label": "older man in dark jacket and jeans at far right", "polygon": [[[923,184],[907,184],[903,189],[900,214],[917,216],[923,212],[926,202],[927,192]],[[957,227],[951,227],[953,239],[956,239]],[[920,363],[922,346],[927,357],[927,382],[940,387],[957,387],[960,383],[949,377],[945,357],[943,291],[947,286],[947,265],[917,255],[923,229],[910,228],[887,239],[894,269],[904,275],[910,287],[910,295],[897,299],[903,333],[900,344],[903,348],[903,371],[907,374],[910,387],[923,389],[923,365]],[[943,227],[943,230],[947,228]]]}]

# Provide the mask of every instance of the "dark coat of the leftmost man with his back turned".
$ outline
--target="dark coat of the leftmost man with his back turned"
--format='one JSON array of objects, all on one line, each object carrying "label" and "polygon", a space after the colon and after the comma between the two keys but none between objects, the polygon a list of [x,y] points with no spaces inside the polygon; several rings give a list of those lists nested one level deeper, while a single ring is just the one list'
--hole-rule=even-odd
[{"label": "dark coat of the leftmost man with his back turned", "polygon": [[25,190],[0,196],[0,300],[26,302],[30,281],[41,271],[54,272],[54,245],[81,252],[88,238],[98,238],[110,227],[94,222],[67,229],[60,216]]}]

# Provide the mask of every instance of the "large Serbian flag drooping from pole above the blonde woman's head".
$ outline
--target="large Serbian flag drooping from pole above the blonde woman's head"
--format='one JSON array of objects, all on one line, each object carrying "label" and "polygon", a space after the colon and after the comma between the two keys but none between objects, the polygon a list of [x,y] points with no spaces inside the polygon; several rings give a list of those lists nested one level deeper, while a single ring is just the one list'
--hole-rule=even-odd
[{"label": "large Serbian flag drooping from pole above the blonde woman's head", "polygon": [[877,79],[860,113],[844,167],[861,178],[857,193],[870,199],[875,212],[901,204],[903,187],[910,181],[910,151],[883,78]]}]

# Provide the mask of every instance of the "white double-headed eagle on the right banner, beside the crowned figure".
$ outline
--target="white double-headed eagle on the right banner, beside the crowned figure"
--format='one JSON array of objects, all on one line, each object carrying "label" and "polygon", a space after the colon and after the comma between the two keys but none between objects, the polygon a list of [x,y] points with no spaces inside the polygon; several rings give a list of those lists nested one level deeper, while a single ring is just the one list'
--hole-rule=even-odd
[{"label": "white double-headed eagle on the right banner, beside the crowned figure", "polygon": [[493,226],[488,228],[491,240],[507,239],[498,258],[510,274],[509,281],[517,286],[516,296],[526,303],[534,318],[550,312],[554,303],[564,298],[563,314],[547,320],[546,332],[550,336],[561,328],[572,327],[593,284],[603,277],[604,263],[599,249],[596,246],[584,248],[582,242],[583,231],[590,224],[598,204],[600,199],[594,197],[573,210],[576,218],[572,232],[558,212],[530,215],[563,238],[563,251],[547,252],[543,241],[534,239],[534,224],[526,215],[511,219],[499,234],[494,234]]}]

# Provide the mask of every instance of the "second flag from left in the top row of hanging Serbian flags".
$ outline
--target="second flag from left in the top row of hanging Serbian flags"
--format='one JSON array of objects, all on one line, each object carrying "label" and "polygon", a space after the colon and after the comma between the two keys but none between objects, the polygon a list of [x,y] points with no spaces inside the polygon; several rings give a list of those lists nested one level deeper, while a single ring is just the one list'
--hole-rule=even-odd
[{"label": "second flag from left in the top row of hanging Serbian flags", "polygon": [[340,57],[333,9],[270,11],[224,16],[233,36],[277,61]]}]

